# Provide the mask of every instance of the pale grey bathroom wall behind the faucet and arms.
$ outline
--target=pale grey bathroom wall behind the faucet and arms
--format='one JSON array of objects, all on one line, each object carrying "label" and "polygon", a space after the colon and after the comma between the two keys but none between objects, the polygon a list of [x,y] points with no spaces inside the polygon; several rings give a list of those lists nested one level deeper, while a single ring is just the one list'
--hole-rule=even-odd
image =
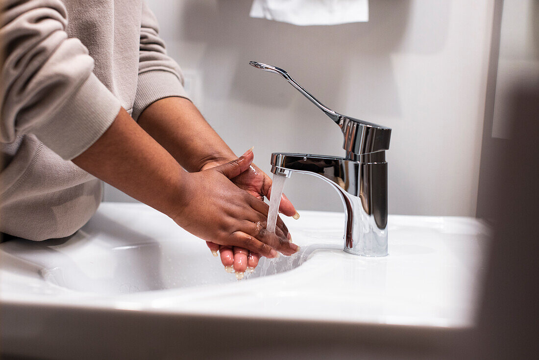
[{"label": "pale grey bathroom wall behind the faucet and arms", "polygon": [[[248,17],[251,0],[153,0],[195,104],[237,153],[342,155],[340,129],[286,69],[337,112],[390,126],[389,212],[474,216],[493,0],[371,0],[368,23],[299,27]],[[319,179],[294,174],[298,209],[342,210]],[[105,200],[129,200],[107,186]]]}]

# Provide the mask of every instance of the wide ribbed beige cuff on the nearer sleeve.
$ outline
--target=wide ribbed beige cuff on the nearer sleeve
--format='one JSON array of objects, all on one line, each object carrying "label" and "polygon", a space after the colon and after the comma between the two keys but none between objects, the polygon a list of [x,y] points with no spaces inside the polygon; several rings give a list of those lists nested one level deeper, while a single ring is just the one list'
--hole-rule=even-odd
[{"label": "wide ribbed beige cuff on the nearer sleeve", "polygon": [[34,134],[52,151],[71,160],[90,147],[113,123],[120,100],[92,73],[51,121]]}]

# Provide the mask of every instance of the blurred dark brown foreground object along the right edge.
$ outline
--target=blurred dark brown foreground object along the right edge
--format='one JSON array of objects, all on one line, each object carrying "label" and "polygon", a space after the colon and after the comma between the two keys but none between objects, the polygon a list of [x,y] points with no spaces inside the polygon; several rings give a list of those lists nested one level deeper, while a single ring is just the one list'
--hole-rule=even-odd
[{"label": "blurred dark brown foreground object along the right edge", "polygon": [[471,358],[539,358],[539,84],[515,87],[508,100],[511,131],[492,174],[495,235],[478,318],[480,346]]}]

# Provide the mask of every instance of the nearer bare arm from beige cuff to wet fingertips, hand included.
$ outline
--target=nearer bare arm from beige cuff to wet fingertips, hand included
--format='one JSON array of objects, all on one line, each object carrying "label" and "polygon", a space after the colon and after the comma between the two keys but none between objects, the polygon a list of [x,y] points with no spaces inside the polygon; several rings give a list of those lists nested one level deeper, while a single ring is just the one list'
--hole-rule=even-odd
[{"label": "nearer bare arm from beige cuff to wet fingertips, hand included", "polygon": [[293,254],[297,247],[261,231],[267,209],[229,179],[251,165],[247,153],[212,169],[187,173],[125,110],[108,130],[73,162],[123,192],[167,214],[204,240],[246,248],[268,257],[276,249]]}]

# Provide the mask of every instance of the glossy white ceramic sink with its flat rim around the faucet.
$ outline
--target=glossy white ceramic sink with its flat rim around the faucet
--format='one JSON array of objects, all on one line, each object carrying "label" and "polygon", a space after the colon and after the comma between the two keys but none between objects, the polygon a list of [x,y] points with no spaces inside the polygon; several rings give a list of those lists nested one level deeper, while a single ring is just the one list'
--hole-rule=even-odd
[{"label": "glossy white ceramic sink with its flat rim around the faucet", "polygon": [[[69,239],[0,244],[0,301],[10,309],[107,310],[111,318],[129,310],[473,327],[488,239],[479,221],[390,215],[389,255],[369,258],[342,251],[343,214],[300,214],[298,221],[285,219],[300,254],[262,260],[237,281],[202,240],[167,216],[140,204],[103,203]],[[3,336],[16,337],[9,332],[16,324],[6,321]]]}]

